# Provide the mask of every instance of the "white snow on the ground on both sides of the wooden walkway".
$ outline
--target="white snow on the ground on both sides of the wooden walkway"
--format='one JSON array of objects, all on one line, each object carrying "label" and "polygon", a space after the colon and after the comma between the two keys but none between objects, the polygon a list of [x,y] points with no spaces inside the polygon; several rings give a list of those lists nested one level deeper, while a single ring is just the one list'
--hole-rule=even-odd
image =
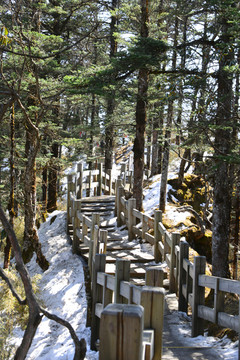
[{"label": "white snow on the ground on both sides of the wooden walkway", "polygon": [[[156,177],[145,193],[144,208],[147,213],[153,213],[154,208],[158,206],[158,194],[159,177]],[[182,216],[182,213],[175,213],[174,210],[171,212],[173,218]],[[39,237],[50,267],[43,273],[33,258],[28,264],[28,270],[32,276],[37,273],[42,275],[39,283],[41,301],[49,312],[68,320],[79,338],[86,339],[86,359],[98,359],[98,353],[91,351],[89,347],[90,329],[86,328],[87,300],[83,265],[80,258],[72,254],[71,246],[67,242],[66,214],[53,212],[41,225]],[[146,251],[147,248],[145,245],[144,250]],[[173,311],[169,316],[173,332],[186,346],[214,347],[219,353],[219,358],[238,359],[238,343],[232,343],[227,337],[221,340],[208,336],[191,338],[189,318],[177,311]],[[16,329],[13,342],[19,343],[22,334],[21,330]],[[73,354],[74,346],[68,331],[53,321],[43,318],[27,360],[72,360]]]}]

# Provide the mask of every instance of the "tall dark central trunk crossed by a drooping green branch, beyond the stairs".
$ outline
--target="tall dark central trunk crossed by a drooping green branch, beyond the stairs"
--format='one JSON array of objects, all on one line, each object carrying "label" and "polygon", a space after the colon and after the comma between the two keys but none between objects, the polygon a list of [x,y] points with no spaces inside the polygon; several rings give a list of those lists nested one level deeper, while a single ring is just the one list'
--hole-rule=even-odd
[{"label": "tall dark central trunk crossed by a drooping green branch, beyond the stairs", "polygon": [[[148,0],[141,0],[141,37],[148,37]],[[147,91],[148,70],[143,68],[138,74],[138,93],[136,104],[136,136],[134,140],[134,184],[133,197],[136,199],[136,208],[142,210],[143,171],[144,171],[144,146],[145,129],[147,122]]]}]

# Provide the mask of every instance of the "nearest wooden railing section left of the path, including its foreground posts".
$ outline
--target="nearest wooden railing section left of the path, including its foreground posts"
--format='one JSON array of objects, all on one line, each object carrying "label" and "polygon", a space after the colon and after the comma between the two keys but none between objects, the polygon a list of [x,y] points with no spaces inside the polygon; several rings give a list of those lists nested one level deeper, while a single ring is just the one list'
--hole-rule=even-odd
[{"label": "nearest wooden railing section left of the path, including its foreground posts", "polygon": [[[130,261],[117,260],[115,276],[105,273],[104,254],[96,254],[93,264],[91,348],[96,349],[96,341],[100,338],[99,359],[161,359],[165,294],[162,288],[163,270],[157,266],[149,268],[146,286],[136,286],[129,282]],[[144,311],[141,312],[138,307],[109,306],[113,303],[141,305]],[[119,312],[124,309],[127,311],[123,319]],[[142,325],[139,323],[139,311]],[[120,328],[124,330],[124,338],[128,339],[127,350],[122,348],[123,342],[119,338],[123,330],[114,331]],[[120,355],[122,353],[125,353],[124,357]]]}]

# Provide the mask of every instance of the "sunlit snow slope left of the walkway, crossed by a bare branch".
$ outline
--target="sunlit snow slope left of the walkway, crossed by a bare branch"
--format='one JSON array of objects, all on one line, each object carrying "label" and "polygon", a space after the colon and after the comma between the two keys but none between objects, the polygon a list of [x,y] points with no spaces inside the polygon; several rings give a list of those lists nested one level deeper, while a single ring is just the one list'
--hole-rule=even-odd
[{"label": "sunlit snow slope left of the walkway, crossed by a bare branch", "polygon": [[[41,225],[39,237],[50,267],[43,273],[35,257],[27,267],[31,276],[36,273],[42,275],[39,283],[41,301],[49,312],[69,321],[79,338],[85,338],[88,347],[86,359],[95,360],[98,354],[89,350],[90,329],[86,328],[83,266],[79,256],[72,254],[67,242],[66,213],[54,211]],[[17,340],[20,343],[22,334],[22,331],[16,330],[14,342]],[[27,360],[72,360],[73,355],[74,345],[68,330],[44,317]]]}]

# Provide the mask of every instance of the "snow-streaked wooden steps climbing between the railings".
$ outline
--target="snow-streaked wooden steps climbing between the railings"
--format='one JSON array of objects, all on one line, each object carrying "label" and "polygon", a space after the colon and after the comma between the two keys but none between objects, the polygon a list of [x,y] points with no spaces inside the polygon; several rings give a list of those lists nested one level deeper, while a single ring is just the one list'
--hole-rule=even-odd
[{"label": "snow-streaked wooden steps climbing between the railings", "polygon": [[[116,259],[131,261],[130,276],[133,282],[144,282],[146,268],[154,262],[154,256],[143,252],[138,241],[128,241],[125,227],[117,228],[115,196],[103,195],[81,199],[81,213],[91,217],[100,214],[100,229],[107,230],[106,273],[115,274]],[[79,246],[82,257],[88,261],[89,247]],[[136,280],[138,279],[138,280]]]}]

